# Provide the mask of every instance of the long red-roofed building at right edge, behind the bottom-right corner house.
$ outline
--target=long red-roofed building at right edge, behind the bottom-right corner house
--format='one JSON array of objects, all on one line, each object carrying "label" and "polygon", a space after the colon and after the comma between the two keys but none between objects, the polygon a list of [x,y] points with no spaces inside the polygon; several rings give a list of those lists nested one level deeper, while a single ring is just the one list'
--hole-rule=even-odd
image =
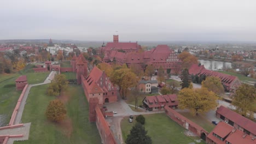
[{"label": "long red-roofed building at right edge, behind the bottom-right corner house", "polygon": [[216,116],[223,119],[223,121],[230,124],[232,127],[248,135],[256,136],[256,123],[238,113],[224,106],[220,106],[216,111]]}]

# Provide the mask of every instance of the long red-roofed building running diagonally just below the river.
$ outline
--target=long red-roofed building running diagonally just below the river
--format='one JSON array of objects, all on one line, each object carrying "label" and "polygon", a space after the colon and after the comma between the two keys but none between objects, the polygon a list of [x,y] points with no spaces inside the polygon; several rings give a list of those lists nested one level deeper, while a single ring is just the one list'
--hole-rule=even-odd
[{"label": "long red-roofed building running diagonally just below the river", "polygon": [[225,91],[233,92],[241,85],[241,81],[236,77],[228,74],[219,73],[217,71],[207,70],[201,64],[193,64],[189,68],[190,75],[217,76],[222,81]]}]

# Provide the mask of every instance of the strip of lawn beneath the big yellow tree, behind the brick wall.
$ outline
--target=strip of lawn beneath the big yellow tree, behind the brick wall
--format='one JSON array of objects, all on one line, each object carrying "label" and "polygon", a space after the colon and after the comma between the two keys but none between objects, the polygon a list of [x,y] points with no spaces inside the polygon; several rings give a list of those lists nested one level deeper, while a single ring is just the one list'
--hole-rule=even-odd
[{"label": "strip of lawn beneath the big yellow tree, behind the brick wall", "polygon": [[183,115],[184,117],[187,117],[190,121],[193,121],[194,123],[199,124],[203,129],[205,129],[209,133],[215,127],[215,125],[213,125],[210,121],[208,121],[205,117],[201,115],[193,116],[189,112],[181,112],[181,111],[177,111],[177,112]]}]

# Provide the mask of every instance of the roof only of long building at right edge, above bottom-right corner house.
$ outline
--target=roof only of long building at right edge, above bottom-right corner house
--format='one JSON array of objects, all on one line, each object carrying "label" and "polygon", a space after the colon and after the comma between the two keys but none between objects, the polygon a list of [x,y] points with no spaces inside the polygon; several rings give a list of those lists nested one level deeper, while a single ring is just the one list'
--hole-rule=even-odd
[{"label": "roof only of long building at right edge, above bottom-right corner house", "polygon": [[240,125],[240,127],[245,128],[246,130],[250,131],[250,133],[256,135],[256,123],[251,121],[250,119],[239,115],[238,113],[229,110],[224,106],[220,106],[219,109],[216,111],[220,115],[230,119],[232,122]]}]

